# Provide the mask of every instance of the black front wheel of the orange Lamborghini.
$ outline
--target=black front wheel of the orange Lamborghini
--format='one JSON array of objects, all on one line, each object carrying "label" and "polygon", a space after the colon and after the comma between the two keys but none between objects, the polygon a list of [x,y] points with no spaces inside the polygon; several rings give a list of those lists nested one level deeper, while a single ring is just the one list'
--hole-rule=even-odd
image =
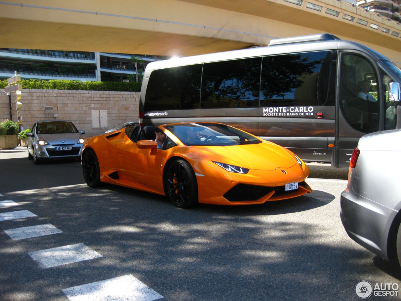
[{"label": "black front wheel of the orange Lamborghini", "polygon": [[198,183],[191,165],[182,160],[173,161],[164,179],[166,195],[179,208],[190,208],[198,203]]}]

